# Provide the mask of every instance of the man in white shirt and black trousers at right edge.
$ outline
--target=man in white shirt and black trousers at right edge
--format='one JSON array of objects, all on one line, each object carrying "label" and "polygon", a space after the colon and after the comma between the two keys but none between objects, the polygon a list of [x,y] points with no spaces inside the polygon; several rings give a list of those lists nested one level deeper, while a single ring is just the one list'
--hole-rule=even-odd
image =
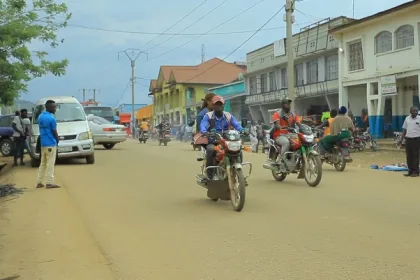
[{"label": "man in white shirt and black trousers at right edge", "polygon": [[406,117],[403,124],[403,133],[398,144],[401,146],[405,139],[405,155],[407,157],[408,173],[406,177],[419,176],[420,156],[420,116],[416,106],[410,108],[410,116]]}]

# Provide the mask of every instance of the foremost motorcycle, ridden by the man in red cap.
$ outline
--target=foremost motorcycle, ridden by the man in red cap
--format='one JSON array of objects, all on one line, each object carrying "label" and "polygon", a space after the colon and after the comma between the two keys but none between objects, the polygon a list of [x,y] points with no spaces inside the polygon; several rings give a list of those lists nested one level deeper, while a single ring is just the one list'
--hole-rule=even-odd
[{"label": "foremost motorcycle, ridden by the man in red cap", "polygon": [[[197,184],[207,189],[207,197],[213,201],[231,201],[235,211],[240,212],[245,205],[246,179],[251,175],[252,164],[242,161],[242,151],[249,151],[242,145],[241,134],[236,130],[222,133],[210,133],[207,137],[213,138],[216,145],[215,164],[206,167],[206,150],[202,147],[201,174],[196,176]],[[249,173],[244,175],[243,166],[249,165]],[[215,177],[208,178],[207,170],[214,169]]]}]

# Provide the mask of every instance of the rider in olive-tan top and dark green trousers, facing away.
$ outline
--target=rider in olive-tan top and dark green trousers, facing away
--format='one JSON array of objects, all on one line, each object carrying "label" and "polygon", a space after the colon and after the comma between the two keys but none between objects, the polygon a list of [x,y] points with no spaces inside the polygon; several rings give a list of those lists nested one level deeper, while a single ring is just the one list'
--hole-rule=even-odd
[{"label": "rider in olive-tan top and dark green trousers, facing away", "polygon": [[332,152],[334,144],[342,139],[350,138],[351,132],[355,131],[353,120],[346,116],[347,108],[341,106],[338,110],[338,116],[331,123],[331,134],[321,139],[321,146],[324,151],[321,154],[328,156]]}]

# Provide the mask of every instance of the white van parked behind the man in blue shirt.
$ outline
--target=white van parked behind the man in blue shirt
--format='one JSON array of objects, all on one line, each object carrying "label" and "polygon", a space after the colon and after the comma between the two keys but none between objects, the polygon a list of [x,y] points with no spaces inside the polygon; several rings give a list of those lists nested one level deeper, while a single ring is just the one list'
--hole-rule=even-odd
[{"label": "white van parked behind the man in blue shirt", "polygon": [[38,117],[45,111],[45,103],[53,100],[57,104],[55,120],[60,138],[57,149],[58,158],[86,158],[88,164],[95,163],[94,143],[83,106],[70,96],[51,96],[38,100],[32,114],[31,154],[32,167],[40,164]]}]

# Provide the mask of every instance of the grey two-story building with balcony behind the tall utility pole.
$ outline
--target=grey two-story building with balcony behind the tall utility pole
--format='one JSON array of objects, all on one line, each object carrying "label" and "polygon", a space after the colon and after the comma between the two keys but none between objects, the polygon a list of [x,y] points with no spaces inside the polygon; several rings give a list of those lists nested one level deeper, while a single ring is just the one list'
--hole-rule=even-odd
[{"label": "grey two-story building with balcony behind the tall utility pole", "polygon": [[[339,42],[329,30],[352,19],[325,19],[293,35],[295,109],[300,115],[319,114],[338,106]],[[286,39],[247,54],[246,103],[254,120],[269,122],[269,110],[291,96],[287,86]]]}]

